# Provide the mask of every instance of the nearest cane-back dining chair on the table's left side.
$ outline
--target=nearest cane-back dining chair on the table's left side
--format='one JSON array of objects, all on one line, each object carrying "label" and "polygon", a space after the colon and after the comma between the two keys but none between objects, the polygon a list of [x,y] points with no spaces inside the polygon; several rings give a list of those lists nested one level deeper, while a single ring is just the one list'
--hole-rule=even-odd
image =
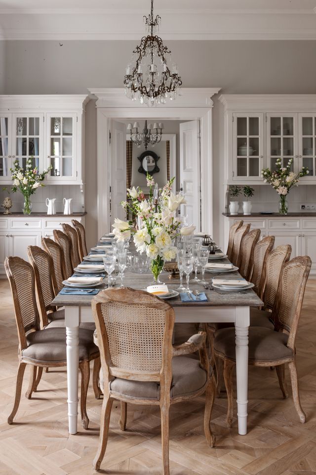
[{"label": "nearest cane-back dining chair on the table's left side", "polygon": [[[19,338],[19,364],[16,375],[14,405],[8,417],[8,424],[12,424],[20,404],[26,365],[32,366],[30,383],[26,392],[28,399],[31,398],[34,391],[37,391],[44,367],[67,365],[66,330],[65,328],[40,329],[40,316],[35,295],[35,274],[31,264],[20,257],[6,257],[4,267],[11,286]],[[89,362],[99,358],[99,356],[99,349],[93,343],[91,331],[79,329],[80,412],[84,428],[87,428],[89,424],[86,413],[86,396],[90,375]]]}]

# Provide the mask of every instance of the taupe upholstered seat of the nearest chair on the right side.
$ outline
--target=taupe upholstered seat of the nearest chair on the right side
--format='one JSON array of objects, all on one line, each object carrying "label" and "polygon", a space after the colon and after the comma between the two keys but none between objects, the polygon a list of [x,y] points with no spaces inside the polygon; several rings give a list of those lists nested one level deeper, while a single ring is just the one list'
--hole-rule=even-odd
[{"label": "taupe upholstered seat of the nearest chair on the right side", "polygon": [[[292,357],[293,352],[286,346],[288,335],[268,328],[249,327],[249,362],[276,361]],[[214,349],[231,360],[236,359],[235,329],[226,328],[215,333]]]}]

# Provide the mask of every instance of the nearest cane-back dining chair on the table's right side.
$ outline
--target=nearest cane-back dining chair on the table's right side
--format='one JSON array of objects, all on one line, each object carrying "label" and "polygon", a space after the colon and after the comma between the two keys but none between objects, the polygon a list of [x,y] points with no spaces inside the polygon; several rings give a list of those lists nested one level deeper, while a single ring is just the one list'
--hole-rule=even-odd
[{"label": "nearest cane-back dining chair on the table's right side", "polygon": [[[286,363],[288,364],[294,406],[302,423],[305,422],[306,416],[299,397],[295,340],[311,265],[312,261],[308,256],[295,257],[284,264],[280,275],[276,302],[272,311],[275,330],[250,327],[248,335],[248,364],[252,366],[275,366],[284,398],[288,397],[284,379],[284,366]],[[215,333],[215,355],[224,360],[224,380],[228,399],[226,420],[229,426],[233,422],[233,369],[236,362],[234,342],[234,329],[227,328]]]}]

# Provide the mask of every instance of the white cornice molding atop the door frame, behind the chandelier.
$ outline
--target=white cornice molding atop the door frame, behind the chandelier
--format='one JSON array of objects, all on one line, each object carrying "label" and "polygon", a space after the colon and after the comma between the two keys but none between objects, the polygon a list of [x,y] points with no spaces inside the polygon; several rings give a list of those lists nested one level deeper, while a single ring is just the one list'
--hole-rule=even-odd
[{"label": "white cornice molding atop the door frame, behind the chandelier", "polygon": [[126,97],[123,88],[92,88],[88,89],[89,93],[97,97],[96,106],[98,108],[138,108],[145,110],[157,110],[165,108],[210,108],[213,106],[211,97],[217,94],[221,88],[181,88],[181,95],[178,95],[175,100],[168,100],[166,104],[157,106],[155,108],[148,107],[146,104],[141,104],[139,101],[132,101]]}]

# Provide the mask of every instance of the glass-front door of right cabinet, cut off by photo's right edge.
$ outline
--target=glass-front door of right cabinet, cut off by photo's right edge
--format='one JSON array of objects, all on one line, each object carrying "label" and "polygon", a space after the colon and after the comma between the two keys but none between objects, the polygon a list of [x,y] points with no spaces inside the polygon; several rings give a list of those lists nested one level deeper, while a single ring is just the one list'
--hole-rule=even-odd
[{"label": "glass-front door of right cabinet, cut off by photo's right edge", "polygon": [[316,177],[316,114],[298,116],[299,169],[308,167],[310,173],[301,180],[315,181]]}]

